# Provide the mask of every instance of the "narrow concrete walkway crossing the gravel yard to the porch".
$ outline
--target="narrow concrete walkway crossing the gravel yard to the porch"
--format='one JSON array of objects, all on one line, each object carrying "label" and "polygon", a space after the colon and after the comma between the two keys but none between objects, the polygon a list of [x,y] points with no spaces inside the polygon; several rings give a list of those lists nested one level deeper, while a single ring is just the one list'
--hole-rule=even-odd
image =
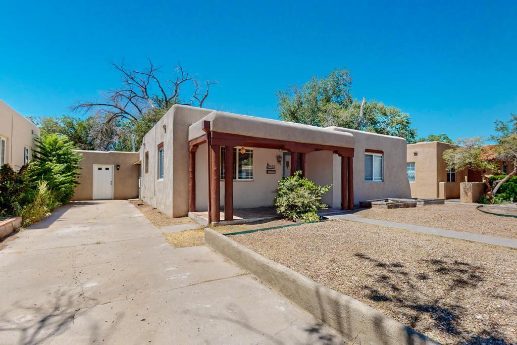
[{"label": "narrow concrete walkway crossing the gravel yard to the porch", "polygon": [[471,232],[463,232],[463,231],[453,231],[453,230],[421,227],[421,226],[413,225],[413,224],[405,224],[405,223],[397,223],[397,222],[386,221],[386,220],[364,218],[364,217],[357,216],[354,214],[341,214],[341,215],[328,216],[326,218],[357,221],[357,222],[361,222],[361,223],[374,224],[374,225],[383,226],[383,227],[423,232],[423,233],[430,234],[430,235],[466,239],[467,241],[491,244],[491,245],[496,245],[496,246],[505,246],[505,247],[510,247],[510,248],[517,248],[517,240],[511,239],[511,238],[480,235],[480,234],[474,234]]}]

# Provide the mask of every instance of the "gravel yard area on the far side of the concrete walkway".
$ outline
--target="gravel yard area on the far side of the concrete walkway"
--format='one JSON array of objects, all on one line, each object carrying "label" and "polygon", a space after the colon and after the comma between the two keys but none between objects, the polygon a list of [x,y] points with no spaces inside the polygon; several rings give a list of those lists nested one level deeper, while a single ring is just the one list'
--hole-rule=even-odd
[{"label": "gravel yard area on the far side of the concrete walkway", "polygon": [[517,218],[486,214],[478,211],[476,206],[445,204],[414,208],[369,208],[355,214],[365,218],[517,239]]}]

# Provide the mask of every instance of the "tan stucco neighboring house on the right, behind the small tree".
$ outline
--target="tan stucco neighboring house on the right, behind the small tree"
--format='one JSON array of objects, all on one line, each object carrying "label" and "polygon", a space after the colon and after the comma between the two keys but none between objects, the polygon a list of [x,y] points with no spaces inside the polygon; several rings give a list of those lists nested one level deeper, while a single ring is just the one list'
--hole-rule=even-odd
[{"label": "tan stucco neighboring house on the right, behind the small tree", "polygon": [[[412,198],[460,198],[460,183],[482,182],[481,172],[465,169],[448,170],[443,158],[446,149],[454,145],[439,141],[407,145],[406,174]],[[511,171],[511,162],[496,161],[500,171]],[[486,172],[490,175],[491,172]]]}]

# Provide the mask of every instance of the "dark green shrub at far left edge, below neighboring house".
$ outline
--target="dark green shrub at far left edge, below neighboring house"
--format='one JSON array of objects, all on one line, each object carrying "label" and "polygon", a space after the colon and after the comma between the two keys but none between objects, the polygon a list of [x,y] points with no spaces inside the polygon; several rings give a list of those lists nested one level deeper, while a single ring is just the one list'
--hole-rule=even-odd
[{"label": "dark green shrub at far left edge, below neighboring house", "polygon": [[33,195],[27,166],[19,172],[9,164],[0,167],[0,217],[20,216],[23,206],[32,202]]}]

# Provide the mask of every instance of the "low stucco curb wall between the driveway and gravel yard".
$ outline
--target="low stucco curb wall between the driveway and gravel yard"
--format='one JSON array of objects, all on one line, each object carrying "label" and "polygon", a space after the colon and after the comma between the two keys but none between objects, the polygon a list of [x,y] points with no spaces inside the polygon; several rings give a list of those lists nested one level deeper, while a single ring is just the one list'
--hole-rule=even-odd
[{"label": "low stucco curb wall between the driveway and gravel yard", "polygon": [[206,228],[205,243],[352,343],[438,344],[357,299],[266,259],[217,231]]}]

